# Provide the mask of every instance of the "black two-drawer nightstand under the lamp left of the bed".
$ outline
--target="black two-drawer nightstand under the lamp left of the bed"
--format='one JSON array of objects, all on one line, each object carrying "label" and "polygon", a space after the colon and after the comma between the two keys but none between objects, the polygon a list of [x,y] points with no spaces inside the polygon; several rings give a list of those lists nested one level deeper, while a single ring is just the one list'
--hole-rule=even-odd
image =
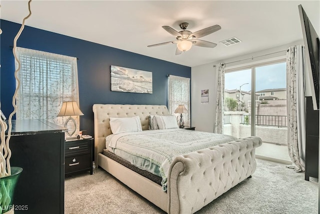
[{"label": "black two-drawer nightstand under the lamp left of the bed", "polygon": [[88,171],[92,174],[93,138],[65,140],[64,174]]}]

